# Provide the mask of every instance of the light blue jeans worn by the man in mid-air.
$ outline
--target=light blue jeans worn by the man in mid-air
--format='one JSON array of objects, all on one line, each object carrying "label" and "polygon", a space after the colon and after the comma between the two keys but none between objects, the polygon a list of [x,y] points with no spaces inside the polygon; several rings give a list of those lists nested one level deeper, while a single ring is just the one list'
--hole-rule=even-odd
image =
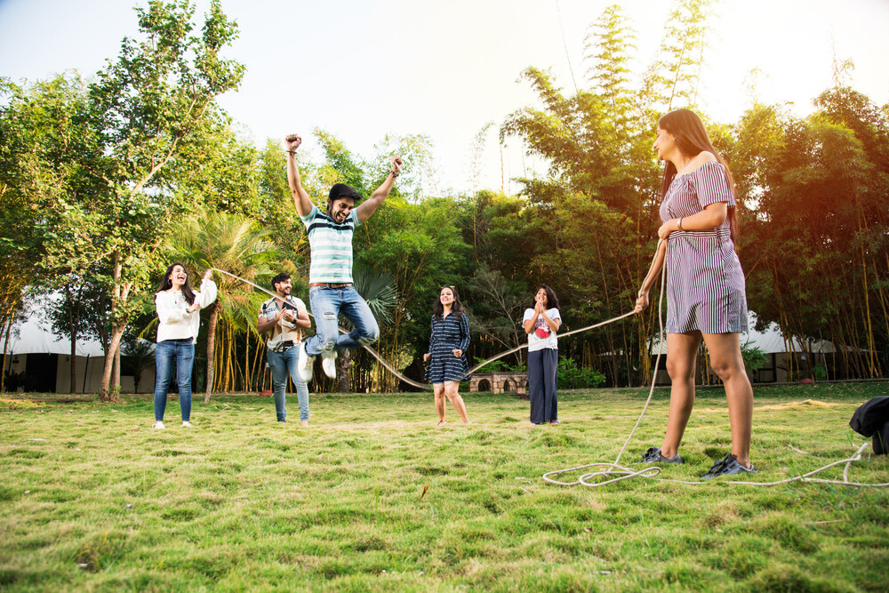
[{"label": "light blue jeans worn by the man in mid-air", "polygon": [[[306,341],[306,353],[316,357],[332,349],[360,348],[380,337],[380,327],[371,308],[352,286],[328,288],[312,286],[308,289],[308,303],[315,316],[315,335]],[[339,314],[346,317],[355,330],[340,334]]]}]

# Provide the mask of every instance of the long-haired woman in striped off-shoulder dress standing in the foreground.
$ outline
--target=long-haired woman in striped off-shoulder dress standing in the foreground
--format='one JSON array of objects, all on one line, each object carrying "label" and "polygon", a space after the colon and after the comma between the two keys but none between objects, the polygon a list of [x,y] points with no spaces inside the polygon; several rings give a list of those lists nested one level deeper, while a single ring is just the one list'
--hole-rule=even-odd
[{"label": "long-haired woman in striped off-shoulder dress standing in the foreground", "polygon": [[639,290],[637,311],[667,261],[667,371],[670,389],[667,432],[651,447],[645,463],[682,463],[679,444],[694,405],[695,364],[701,340],[710,366],[725,385],[732,451],[713,464],[705,479],[747,474],[753,423],[753,389],[741,357],[747,331],[744,273],[734,250],[737,237],[734,183],[725,160],[713,148],[701,119],[677,109],[658,122],[654,149],[667,161],[661,184],[663,239],[650,274]]}]

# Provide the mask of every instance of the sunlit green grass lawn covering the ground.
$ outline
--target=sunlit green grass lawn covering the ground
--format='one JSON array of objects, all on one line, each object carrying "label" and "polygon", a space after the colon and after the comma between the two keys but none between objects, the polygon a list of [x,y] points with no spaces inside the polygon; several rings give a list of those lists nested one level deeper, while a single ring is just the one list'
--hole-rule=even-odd
[{"label": "sunlit green grass lawn covering the ground", "polygon": [[[755,389],[752,479],[851,456],[855,407],[886,390]],[[449,407],[441,429],[431,394],[313,394],[308,429],[295,395],[288,424],[269,397],[197,398],[192,429],[172,399],[166,430],[150,397],[5,394],[0,590],[889,590],[889,488],[541,480],[614,461],[647,394],[564,391],[541,427],[526,400],[466,394],[473,423]],[[661,389],[622,463],[661,444],[667,409]],[[729,445],[723,391],[701,389],[661,477]],[[889,458],[850,479],[889,482]]]}]

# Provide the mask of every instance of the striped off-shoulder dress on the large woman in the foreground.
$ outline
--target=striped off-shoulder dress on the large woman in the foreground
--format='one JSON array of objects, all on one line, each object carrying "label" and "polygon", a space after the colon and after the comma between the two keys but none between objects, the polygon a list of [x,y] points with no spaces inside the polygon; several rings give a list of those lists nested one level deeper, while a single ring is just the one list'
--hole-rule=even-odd
[{"label": "striped off-shoulder dress on the large woman in the foreground", "polygon": [[[709,204],[734,195],[718,162],[670,183],[661,203],[661,220],[692,216]],[[747,295],[741,261],[734,252],[729,220],[709,230],[670,233],[667,244],[667,333],[747,331]]]}]

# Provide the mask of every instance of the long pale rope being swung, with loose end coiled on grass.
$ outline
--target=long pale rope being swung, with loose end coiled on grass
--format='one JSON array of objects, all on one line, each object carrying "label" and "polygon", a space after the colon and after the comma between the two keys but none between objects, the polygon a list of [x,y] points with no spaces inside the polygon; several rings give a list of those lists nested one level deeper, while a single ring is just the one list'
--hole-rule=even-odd
[{"label": "long pale rope being swung, with loose end coiled on grass", "polygon": [[[645,280],[643,280],[643,285],[645,285],[645,283],[648,282],[649,278],[653,274],[654,263],[655,263],[655,261],[657,261],[658,253],[661,250],[662,243],[664,243],[664,240],[660,239],[658,241],[657,247],[654,250],[654,258],[652,260],[652,265],[648,268],[648,273],[645,275]],[[220,272],[220,274],[225,274],[226,276],[231,276],[231,277],[235,278],[236,280],[243,282],[244,284],[250,284],[253,288],[259,290],[260,292],[265,292],[266,294],[269,294],[274,298],[280,298],[275,292],[271,292],[267,288],[263,288],[259,284],[254,284],[250,280],[242,278],[241,276],[236,276],[235,274],[232,274],[231,272],[228,272],[228,271],[226,271],[224,269],[220,269],[220,268],[210,268],[210,269],[212,269],[213,271],[216,271],[216,272]],[[660,333],[661,339],[664,335],[663,297],[664,297],[664,286],[666,285],[665,284],[666,276],[667,276],[667,254],[665,251],[664,252],[664,260],[661,264],[661,295],[660,295],[660,298],[658,301],[658,323],[660,325],[660,330],[661,330],[661,333]],[[309,313],[309,315],[312,315],[312,314]],[[612,317],[611,319],[606,319],[605,321],[601,321],[597,324],[588,325],[586,327],[581,327],[580,329],[572,330],[571,332],[561,333],[559,335],[561,337],[566,337],[566,336],[572,335],[574,333],[588,332],[589,330],[596,329],[597,327],[602,327],[603,325],[612,324],[616,321],[620,321],[621,319],[630,317],[632,315],[636,315],[635,309],[631,310],[627,313],[624,313],[623,315],[620,315],[618,317]],[[312,315],[312,317],[315,317],[315,316]],[[348,333],[342,327],[340,327],[339,329],[340,329],[340,333]],[[402,373],[399,373],[398,370],[395,367],[393,367],[392,365],[390,365],[383,357],[381,357],[380,353],[377,352],[375,349],[372,349],[370,346],[367,346],[367,345],[362,345],[362,347],[365,350],[367,350],[371,354],[372,357],[376,358],[377,361],[380,363],[380,365],[383,365],[389,371],[389,373],[392,373],[393,375],[395,375],[400,381],[404,381],[408,385],[411,385],[412,387],[416,387],[418,389],[423,389],[423,390],[431,389],[428,384],[413,381],[412,379],[405,377]],[[487,358],[486,360],[482,361],[478,365],[469,369],[469,373],[467,373],[467,374],[470,375],[472,373],[475,373],[478,369],[482,368],[485,365],[488,365],[489,363],[492,363],[495,360],[498,360],[502,357],[507,357],[510,354],[513,354],[515,352],[518,352],[519,350],[526,349],[526,348],[528,348],[528,345],[522,344],[520,346],[517,346],[514,349],[509,349],[504,352],[501,352],[498,355]],[[621,447],[621,453],[618,453],[617,458],[615,458],[613,463],[607,463],[607,462],[587,463],[585,465],[580,465],[580,466],[576,466],[573,468],[555,469],[553,471],[548,471],[547,473],[543,474],[543,476],[541,476],[544,481],[549,482],[549,484],[553,484],[553,485],[560,485],[560,486],[583,485],[583,486],[587,486],[590,488],[598,488],[598,487],[601,487],[604,485],[614,484],[615,482],[621,482],[622,480],[627,480],[627,479],[633,478],[633,477],[645,477],[647,479],[652,479],[652,480],[655,480],[658,482],[673,482],[673,483],[677,483],[677,484],[688,484],[688,485],[707,484],[707,482],[703,482],[703,481],[689,482],[689,481],[684,481],[684,480],[674,480],[674,479],[669,479],[669,478],[656,477],[656,476],[658,476],[658,474],[661,473],[661,468],[656,467],[656,466],[647,466],[647,467],[645,467],[645,469],[631,469],[631,468],[627,468],[627,467],[624,467],[624,466],[621,466],[618,464],[619,461],[621,461],[621,456],[627,450],[627,446],[629,445],[630,440],[632,440],[633,435],[636,433],[636,430],[639,428],[639,424],[642,422],[642,419],[645,417],[645,412],[648,410],[648,405],[651,404],[652,397],[654,395],[654,383],[656,381],[658,369],[661,364],[661,350],[662,350],[661,348],[658,349],[658,356],[655,358],[655,361],[654,361],[654,370],[652,373],[652,385],[651,385],[651,389],[648,390],[648,398],[645,400],[645,405],[642,407],[642,413],[639,414],[639,418],[636,421],[636,425],[633,427],[632,430],[629,431],[629,436],[627,437],[627,440],[624,441],[624,444]],[[785,479],[785,480],[780,480],[777,482],[739,482],[739,481],[720,480],[720,482],[722,484],[734,484],[734,485],[774,486],[774,485],[789,484],[790,482],[799,481],[799,482],[812,482],[812,483],[817,483],[817,484],[834,484],[834,485],[856,486],[859,488],[861,488],[861,487],[872,487],[872,488],[889,487],[889,483],[866,484],[866,483],[861,483],[861,482],[850,482],[849,481],[848,475],[849,475],[850,466],[852,465],[853,461],[861,461],[861,453],[863,453],[864,449],[868,445],[869,445],[868,443],[861,445],[861,447],[858,449],[858,451],[855,452],[853,454],[853,456],[848,459],[834,461],[833,463],[829,463],[828,465],[825,465],[819,469],[815,469],[813,471],[810,471],[808,473],[798,475],[795,477],[789,477],[788,479]],[[845,463],[845,469],[843,470],[843,480],[842,481],[827,480],[827,479],[822,479],[822,478],[810,477],[810,476],[814,476],[815,474],[821,473],[825,469],[829,469],[829,468],[832,468],[837,465],[842,465],[844,463]],[[584,473],[580,477],[578,477],[576,480],[574,480],[573,482],[562,482],[562,481],[552,478],[552,476],[559,476],[561,474],[567,474],[567,473],[571,473],[571,472],[580,471],[581,469],[589,469],[589,468],[600,468],[600,469],[597,469],[597,471],[591,471],[591,472]],[[617,477],[612,477],[612,476],[617,476]],[[597,480],[597,481],[592,481],[592,480]]]}]

